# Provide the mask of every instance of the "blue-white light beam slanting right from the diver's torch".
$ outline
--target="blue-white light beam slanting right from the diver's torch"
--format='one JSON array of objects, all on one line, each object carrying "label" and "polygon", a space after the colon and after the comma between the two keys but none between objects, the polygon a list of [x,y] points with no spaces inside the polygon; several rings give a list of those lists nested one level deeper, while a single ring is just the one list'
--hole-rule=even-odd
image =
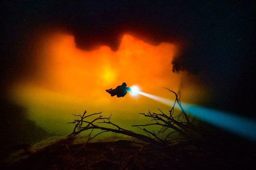
[{"label": "blue-white light beam slanting right from the diver's torch", "polygon": [[[159,101],[162,104],[169,106],[173,106],[174,104],[173,100],[161,98],[141,91],[137,91],[137,93]],[[194,116],[195,118],[223,128],[235,135],[239,135],[256,143],[256,121],[254,119],[186,103],[183,103],[182,107],[186,113]],[[180,109],[178,105],[175,105],[175,108]]]}]

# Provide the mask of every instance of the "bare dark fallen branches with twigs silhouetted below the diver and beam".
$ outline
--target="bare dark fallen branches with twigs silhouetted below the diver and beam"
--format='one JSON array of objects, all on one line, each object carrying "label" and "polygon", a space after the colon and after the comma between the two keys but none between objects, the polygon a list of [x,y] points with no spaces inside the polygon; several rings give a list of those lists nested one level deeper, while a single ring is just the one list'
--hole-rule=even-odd
[{"label": "bare dark fallen branches with twigs silhouetted below the diver and beam", "polygon": [[[69,123],[75,124],[75,127],[73,132],[70,135],[68,135],[68,137],[71,137],[72,135],[78,135],[81,132],[86,130],[101,129],[103,130],[102,133],[112,132],[112,133],[124,134],[124,135],[134,137],[136,139],[142,140],[147,143],[152,143],[156,146],[168,146],[168,144],[170,144],[171,141],[195,139],[198,136],[198,134],[199,135],[202,134],[201,132],[202,129],[198,128],[197,126],[191,123],[189,116],[186,114],[186,112],[184,111],[181,105],[180,94],[178,97],[177,93],[170,90],[169,88],[166,88],[166,89],[175,94],[175,102],[171,110],[169,111],[170,115],[165,114],[164,112],[161,111],[161,109],[158,108],[160,113],[154,113],[154,112],[151,113],[150,111],[148,111],[147,114],[139,113],[145,117],[152,118],[151,121],[154,121],[154,123],[148,123],[144,125],[132,125],[133,127],[137,127],[143,130],[148,136],[132,132],[131,130],[124,129],[116,125],[115,123],[112,123],[110,121],[112,114],[108,117],[103,117],[101,115],[102,112],[86,115],[87,111],[85,111],[83,115],[73,114],[74,116],[79,118],[75,119],[73,122],[69,122]],[[178,113],[176,116],[173,116],[174,111],[176,110],[175,109],[176,104],[178,104],[178,106],[180,107],[180,110],[179,110],[180,113]],[[88,117],[95,116],[95,115],[99,115],[99,117],[93,119],[92,121],[88,121],[86,119]],[[97,124],[95,125],[95,123]],[[104,127],[105,124],[112,125],[113,128]],[[99,126],[99,125],[102,125],[102,126]],[[150,131],[145,128],[149,126],[159,126],[160,130],[157,133],[155,133],[154,130]],[[164,134],[165,132],[167,132],[167,135],[165,135],[164,137],[159,136],[160,133]],[[177,134],[177,136],[175,137],[174,134]],[[96,137],[97,135],[95,135],[94,137]]]}]

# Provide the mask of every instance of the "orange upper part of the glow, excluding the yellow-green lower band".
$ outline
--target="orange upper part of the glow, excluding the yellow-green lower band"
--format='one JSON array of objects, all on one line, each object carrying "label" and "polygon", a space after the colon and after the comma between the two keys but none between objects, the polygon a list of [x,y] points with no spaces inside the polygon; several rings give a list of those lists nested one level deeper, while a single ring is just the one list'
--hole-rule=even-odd
[{"label": "orange upper part of the glow, excluding the yellow-green lower band", "polygon": [[172,44],[155,47],[124,35],[116,52],[106,46],[88,52],[77,49],[74,37],[66,34],[56,34],[45,43],[46,51],[37,63],[37,77],[43,78],[36,78],[36,83],[52,91],[99,99],[109,98],[105,89],[122,82],[139,84],[147,92],[163,86],[177,89],[179,84],[178,76],[171,73]]}]

